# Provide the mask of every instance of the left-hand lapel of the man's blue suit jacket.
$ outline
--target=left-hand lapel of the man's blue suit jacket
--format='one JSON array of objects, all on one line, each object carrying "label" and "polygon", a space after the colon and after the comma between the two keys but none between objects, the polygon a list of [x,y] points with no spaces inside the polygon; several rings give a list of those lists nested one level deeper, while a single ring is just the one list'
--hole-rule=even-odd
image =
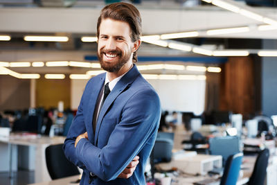
[{"label": "left-hand lapel of the man's blue suit jacket", "polygon": [[105,81],[105,74],[101,76],[100,80],[96,81],[96,83],[93,84],[91,95],[89,98],[89,107],[87,109],[87,121],[85,121],[85,123],[87,123],[88,135],[92,136],[90,139],[91,141],[93,141],[92,139],[94,139],[93,123],[92,123],[93,112],[96,107],[98,94],[100,93],[100,90],[102,89],[104,81]]}]

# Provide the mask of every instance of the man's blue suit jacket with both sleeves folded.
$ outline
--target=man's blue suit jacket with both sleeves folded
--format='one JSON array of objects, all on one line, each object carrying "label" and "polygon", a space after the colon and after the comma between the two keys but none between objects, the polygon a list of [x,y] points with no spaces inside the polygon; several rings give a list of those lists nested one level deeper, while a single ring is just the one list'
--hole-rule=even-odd
[{"label": "man's blue suit jacket with both sleeves folded", "polygon": [[[161,105],[157,93],[134,65],[121,78],[102,105],[96,133],[93,134],[93,112],[105,73],[87,83],[78,112],[64,141],[64,153],[82,168],[80,184],[89,184],[89,173],[96,175],[92,184],[145,184],[145,164],[157,136]],[[87,132],[89,140],[78,135]],[[132,177],[116,178],[139,155]]]}]

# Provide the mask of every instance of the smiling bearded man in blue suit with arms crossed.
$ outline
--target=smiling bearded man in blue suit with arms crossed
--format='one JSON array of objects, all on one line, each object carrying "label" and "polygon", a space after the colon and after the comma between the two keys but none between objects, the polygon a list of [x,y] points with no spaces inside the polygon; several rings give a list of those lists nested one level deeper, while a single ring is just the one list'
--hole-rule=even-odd
[{"label": "smiling bearded man in blue suit with arms crossed", "polygon": [[145,184],[161,107],[157,93],[133,64],[140,35],[141,16],[132,4],[102,9],[98,59],[107,73],[87,83],[64,141],[66,157],[83,169],[80,184]]}]

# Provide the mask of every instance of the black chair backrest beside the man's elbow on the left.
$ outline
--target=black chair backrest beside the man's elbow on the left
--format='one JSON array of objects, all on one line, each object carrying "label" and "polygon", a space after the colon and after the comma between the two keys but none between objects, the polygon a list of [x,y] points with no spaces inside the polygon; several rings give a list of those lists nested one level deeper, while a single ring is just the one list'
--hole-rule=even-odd
[{"label": "black chair backrest beside the man's elbow on the left", "polygon": [[63,144],[48,146],[45,150],[46,166],[51,179],[80,174],[78,168],[66,159]]}]

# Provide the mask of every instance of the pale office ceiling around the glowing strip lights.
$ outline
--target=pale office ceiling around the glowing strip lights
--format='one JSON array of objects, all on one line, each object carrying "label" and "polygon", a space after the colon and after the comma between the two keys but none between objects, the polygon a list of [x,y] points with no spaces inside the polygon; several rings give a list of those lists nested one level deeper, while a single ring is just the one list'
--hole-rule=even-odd
[{"label": "pale office ceiling around the glowing strip lights", "polygon": [[[100,10],[105,6],[104,1],[60,0],[53,2],[0,0],[0,35],[8,34],[12,37],[9,42],[0,42],[0,61],[83,61],[86,55],[96,55],[96,43],[84,43],[80,40],[80,37],[96,35],[96,23]],[[263,4],[254,4],[255,6],[249,6],[249,4],[253,5],[251,1],[236,3],[277,20],[277,1],[260,2],[263,2]],[[206,49],[234,49],[236,47],[242,49],[242,45],[249,49],[260,49],[261,44],[255,43],[260,43],[262,39],[277,39],[277,28],[274,30],[258,30],[258,26],[264,23],[208,5],[208,3],[202,1],[145,0],[140,4],[136,4],[136,7],[141,12],[143,35],[161,35],[197,30],[199,31],[197,37],[173,40],[201,45]],[[249,32],[224,35],[206,34],[208,29],[242,26],[249,26]],[[25,42],[23,40],[24,35],[65,35],[69,37],[69,42]],[[242,44],[241,41],[250,44]],[[230,45],[232,46],[230,47]],[[197,56],[195,53],[162,48],[147,43],[143,43],[139,55]],[[26,69],[17,70],[25,72]],[[31,69],[28,70],[32,72]],[[33,70],[37,71],[37,69]],[[59,71],[60,69],[53,69],[54,72],[55,70]],[[64,71],[66,70],[64,69]],[[75,69],[70,70],[74,71]],[[82,70],[79,72],[82,73]],[[160,72],[158,71],[158,73]]]}]

